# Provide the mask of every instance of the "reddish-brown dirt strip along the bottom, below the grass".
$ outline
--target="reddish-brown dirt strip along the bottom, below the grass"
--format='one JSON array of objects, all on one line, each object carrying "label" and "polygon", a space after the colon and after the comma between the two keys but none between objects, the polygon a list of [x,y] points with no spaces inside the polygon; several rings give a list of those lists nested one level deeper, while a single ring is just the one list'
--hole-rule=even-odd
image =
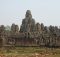
[{"label": "reddish-brown dirt strip along the bottom, below the grass", "polygon": [[38,53],[34,53],[34,54],[30,54],[30,55],[25,55],[25,54],[3,55],[3,54],[1,54],[0,57],[60,57],[60,54],[38,54]]}]

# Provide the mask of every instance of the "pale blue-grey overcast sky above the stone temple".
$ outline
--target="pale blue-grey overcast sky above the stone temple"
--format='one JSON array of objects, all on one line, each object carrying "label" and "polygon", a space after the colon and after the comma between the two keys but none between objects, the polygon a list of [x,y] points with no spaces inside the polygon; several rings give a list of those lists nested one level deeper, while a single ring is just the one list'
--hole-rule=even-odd
[{"label": "pale blue-grey overcast sky above the stone temple", "polygon": [[0,25],[20,26],[27,10],[36,22],[60,26],[60,0],[0,0]]}]

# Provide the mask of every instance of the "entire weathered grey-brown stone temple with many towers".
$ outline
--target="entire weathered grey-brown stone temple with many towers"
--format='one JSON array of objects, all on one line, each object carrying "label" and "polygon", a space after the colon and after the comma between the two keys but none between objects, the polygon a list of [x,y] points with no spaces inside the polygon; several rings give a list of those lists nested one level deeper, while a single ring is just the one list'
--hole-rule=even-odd
[{"label": "entire weathered grey-brown stone temple with many towers", "polygon": [[20,29],[16,24],[11,25],[11,30],[0,26],[0,46],[60,47],[60,28],[36,23],[31,11],[27,10]]}]

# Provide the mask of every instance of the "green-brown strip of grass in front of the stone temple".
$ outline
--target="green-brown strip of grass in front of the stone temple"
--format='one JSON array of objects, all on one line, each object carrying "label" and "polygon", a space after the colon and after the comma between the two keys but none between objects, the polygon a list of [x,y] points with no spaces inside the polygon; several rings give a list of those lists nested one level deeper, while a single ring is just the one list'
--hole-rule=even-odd
[{"label": "green-brown strip of grass in front of the stone temple", "polygon": [[44,47],[15,47],[0,48],[0,54],[5,56],[21,56],[21,57],[60,57],[60,48],[44,48]]}]

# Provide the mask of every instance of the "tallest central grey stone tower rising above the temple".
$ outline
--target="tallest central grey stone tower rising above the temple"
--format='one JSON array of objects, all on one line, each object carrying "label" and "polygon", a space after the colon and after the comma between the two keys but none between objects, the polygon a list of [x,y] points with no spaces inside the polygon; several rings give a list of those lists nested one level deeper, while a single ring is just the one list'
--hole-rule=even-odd
[{"label": "tallest central grey stone tower rising above the temple", "polygon": [[32,18],[30,10],[26,11],[25,18],[22,21],[20,32],[34,32],[35,31],[35,20]]}]

